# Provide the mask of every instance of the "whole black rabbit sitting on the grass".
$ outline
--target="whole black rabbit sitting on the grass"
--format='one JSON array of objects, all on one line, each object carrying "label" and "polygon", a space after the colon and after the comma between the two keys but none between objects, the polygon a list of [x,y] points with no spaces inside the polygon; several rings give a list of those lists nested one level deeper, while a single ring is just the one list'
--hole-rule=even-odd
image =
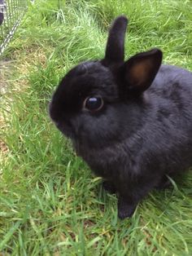
[{"label": "whole black rabbit sitting on the grass", "polygon": [[120,218],[192,166],[192,73],[161,65],[159,49],[124,62],[127,23],[116,18],[104,59],[72,68],[50,103],[58,129],[117,192]]}]

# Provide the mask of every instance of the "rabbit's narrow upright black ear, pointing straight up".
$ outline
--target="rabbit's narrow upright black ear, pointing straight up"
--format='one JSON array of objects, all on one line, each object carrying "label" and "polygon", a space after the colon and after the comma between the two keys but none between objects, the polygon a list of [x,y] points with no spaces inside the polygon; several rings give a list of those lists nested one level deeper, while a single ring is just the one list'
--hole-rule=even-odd
[{"label": "rabbit's narrow upright black ear, pointing straight up", "polygon": [[109,31],[103,64],[112,65],[124,62],[124,37],[128,19],[120,15],[114,20]]}]

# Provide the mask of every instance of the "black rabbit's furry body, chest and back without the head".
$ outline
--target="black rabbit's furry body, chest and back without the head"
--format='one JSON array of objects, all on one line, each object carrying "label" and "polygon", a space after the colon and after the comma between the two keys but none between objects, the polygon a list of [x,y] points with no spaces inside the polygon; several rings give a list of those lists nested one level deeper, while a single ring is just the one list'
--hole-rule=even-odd
[{"label": "black rabbit's furry body, chest and back without the head", "polygon": [[133,193],[137,201],[137,196],[141,199],[152,188],[164,186],[166,174],[192,166],[192,73],[161,65],[142,99],[120,108],[123,115],[116,118],[114,136],[107,138],[112,126],[107,123],[105,138],[103,119],[100,135],[85,130],[74,147],[96,174],[117,192]]}]

